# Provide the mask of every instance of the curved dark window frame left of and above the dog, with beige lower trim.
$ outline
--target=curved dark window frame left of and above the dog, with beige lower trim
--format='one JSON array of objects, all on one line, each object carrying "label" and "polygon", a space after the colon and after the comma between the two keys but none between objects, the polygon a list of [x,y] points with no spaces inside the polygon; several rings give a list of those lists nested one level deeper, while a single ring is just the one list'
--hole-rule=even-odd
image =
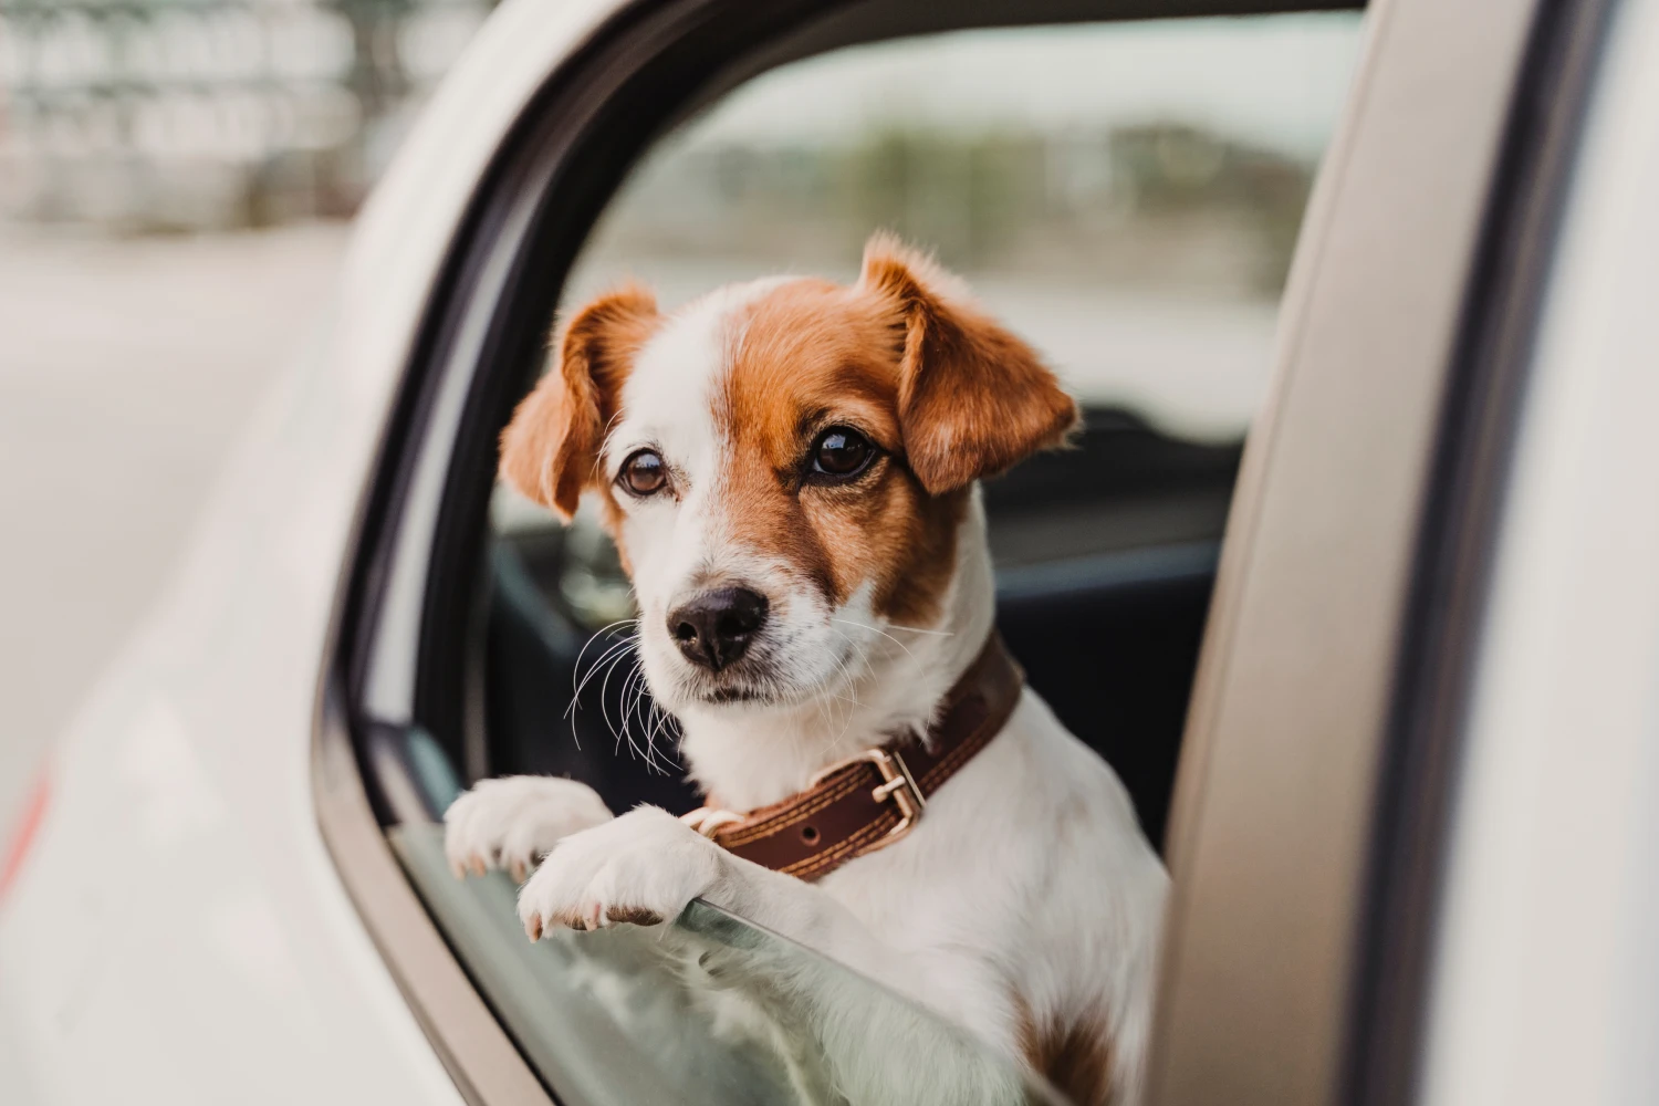
[{"label": "curved dark window frame left of and above the dog, with beige lower trim", "polygon": [[[373,678],[377,628],[388,617],[401,615],[403,625],[418,627],[416,673],[461,672],[478,653],[476,612],[468,599],[481,560],[494,434],[539,368],[559,285],[627,167],[665,128],[712,96],[776,65],[839,46],[980,27],[1362,5],[972,0],[941,8],[876,0],[599,0],[599,7],[606,13],[576,50],[544,60],[546,76],[533,96],[474,121],[499,138],[411,335],[342,570],[317,693],[312,781],[324,841],[456,1088],[468,1103],[489,1106],[554,1099],[473,988],[387,844],[382,826],[397,819],[398,799],[373,783],[375,735],[385,726],[365,713],[363,696]],[[448,91],[453,99],[455,90]],[[423,463],[438,473],[436,481],[423,481]],[[421,557],[425,569],[415,587],[400,592],[400,560],[411,555]],[[415,678],[411,685],[411,720],[446,720],[440,728],[476,733],[476,703],[466,682]],[[465,738],[451,754],[471,769],[481,764],[479,749]]]}]

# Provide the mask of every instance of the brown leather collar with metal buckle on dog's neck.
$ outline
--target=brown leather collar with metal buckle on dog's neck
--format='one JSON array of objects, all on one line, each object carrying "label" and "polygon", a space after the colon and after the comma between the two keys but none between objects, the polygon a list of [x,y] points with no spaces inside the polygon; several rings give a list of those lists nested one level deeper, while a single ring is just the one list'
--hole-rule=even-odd
[{"label": "brown leather collar with metal buckle on dog's neck", "polygon": [[1000,733],[1024,682],[992,630],[921,741],[904,735],[831,764],[783,803],[748,814],[705,806],[684,821],[747,861],[818,879],[907,834],[927,799]]}]

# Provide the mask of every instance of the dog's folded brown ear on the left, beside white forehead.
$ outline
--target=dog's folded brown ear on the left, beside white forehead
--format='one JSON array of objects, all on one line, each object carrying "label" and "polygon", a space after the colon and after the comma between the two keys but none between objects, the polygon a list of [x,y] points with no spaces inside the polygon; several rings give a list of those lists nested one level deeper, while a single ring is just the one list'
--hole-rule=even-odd
[{"label": "dog's folded brown ear on the left, beside white forehead", "polygon": [[554,342],[552,366],[501,431],[501,479],[571,521],[596,476],[622,381],[657,320],[655,297],[635,285],[571,317]]}]

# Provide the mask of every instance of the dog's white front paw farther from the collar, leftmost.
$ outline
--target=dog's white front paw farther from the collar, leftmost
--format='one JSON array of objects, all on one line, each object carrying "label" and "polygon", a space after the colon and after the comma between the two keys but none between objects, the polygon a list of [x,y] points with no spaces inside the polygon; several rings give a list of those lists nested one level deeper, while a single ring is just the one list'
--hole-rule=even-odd
[{"label": "dog's white front paw farther from the collar, leftmost", "polygon": [[443,851],[456,876],[504,867],[524,876],[571,834],[611,821],[592,788],[556,776],[481,779],[443,814]]}]

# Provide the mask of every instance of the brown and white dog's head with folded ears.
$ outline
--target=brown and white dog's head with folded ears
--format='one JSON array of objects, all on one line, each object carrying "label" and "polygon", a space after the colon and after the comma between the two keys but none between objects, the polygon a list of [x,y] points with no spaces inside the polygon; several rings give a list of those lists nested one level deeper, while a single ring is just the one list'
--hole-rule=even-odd
[{"label": "brown and white dog's head with folded ears", "polygon": [[853,285],[728,285],[674,313],[637,287],[577,310],[501,438],[566,519],[602,501],[669,710],[836,693],[891,627],[927,627],[982,476],[1077,406],[929,259],[878,235]]}]

